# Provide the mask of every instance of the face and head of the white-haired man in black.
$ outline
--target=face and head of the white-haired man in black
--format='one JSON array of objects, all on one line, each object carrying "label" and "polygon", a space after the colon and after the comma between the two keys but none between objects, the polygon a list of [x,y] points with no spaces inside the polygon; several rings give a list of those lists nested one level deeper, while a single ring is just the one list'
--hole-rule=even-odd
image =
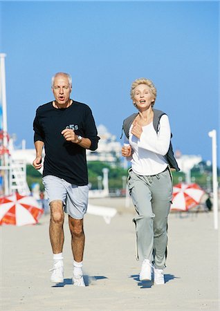
[{"label": "face and head of the white-haired man in black", "polygon": [[53,82],[52,91],[57,104],[67,104],[72,91],[72,87],[68,83],[68,77],[66,75],[57,75]]}]

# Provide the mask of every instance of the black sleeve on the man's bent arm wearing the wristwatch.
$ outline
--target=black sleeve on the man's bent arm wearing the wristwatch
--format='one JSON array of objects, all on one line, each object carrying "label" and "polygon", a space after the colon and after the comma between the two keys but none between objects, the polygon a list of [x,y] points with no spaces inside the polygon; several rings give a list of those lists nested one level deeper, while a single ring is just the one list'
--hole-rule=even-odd
[{"label": "black sleeve on the man's bent arm wearing the wristwatch", "polygon": [[91,147],[89,149],[95,151],[98,148],[98,140],[100,140],[100,138],[98,137],[95,120],[89,106],[86,110],[86,120],[84,126],[85,138],[89,138],[89,140],[91,140]]}]

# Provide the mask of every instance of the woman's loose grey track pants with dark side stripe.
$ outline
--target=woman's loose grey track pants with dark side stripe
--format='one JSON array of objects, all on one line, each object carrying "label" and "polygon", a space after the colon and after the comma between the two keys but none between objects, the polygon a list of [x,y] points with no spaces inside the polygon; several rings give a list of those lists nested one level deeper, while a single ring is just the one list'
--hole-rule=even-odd
[{"label": "woman's loose grey track pants with dark side stripe", "polygon": [[165,268],[167,217],[172,200],[169,169],[154,176],[140,176],[129,169],[128,187],[137,216],[136,257],[154,261],[156,269]]}]

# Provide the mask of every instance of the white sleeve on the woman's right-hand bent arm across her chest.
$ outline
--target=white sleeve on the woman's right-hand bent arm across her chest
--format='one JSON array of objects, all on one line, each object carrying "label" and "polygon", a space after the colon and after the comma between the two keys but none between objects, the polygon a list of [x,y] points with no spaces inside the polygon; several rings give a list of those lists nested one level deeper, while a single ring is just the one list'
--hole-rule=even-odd
[{"label": "white sleeve on the woman's right-hand bent arm across her chest", "polygon": [[138,147],[165,156],[169,149],[170,138],[169,119],[167,115],[162,115],[158,133],[153,131],[152,136],[149,137],[143,132],[138,140]]}]

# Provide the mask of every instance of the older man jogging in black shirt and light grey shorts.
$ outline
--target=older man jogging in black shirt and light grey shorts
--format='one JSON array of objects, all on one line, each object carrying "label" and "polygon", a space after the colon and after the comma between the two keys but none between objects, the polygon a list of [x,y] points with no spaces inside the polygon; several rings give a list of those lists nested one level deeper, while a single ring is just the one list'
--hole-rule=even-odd
[{"label": "older man jogging in black shirt and light grey shorts", "polygon": [[64,211],[72,236],[73,284],[84,286],[82,259],[84,252],[83,218],[88,204],[86,149],[98,147],[98,133],[91,109],[71,100],[72,79],[67,73],[52,78],[55,100],[39,106],[33,122],[36,158],[35,169],[42,167],[45,148],[43,184],[51,207],[50,240],[53,249],[51,281],[64,281],[62,249],[64,245]]}]

